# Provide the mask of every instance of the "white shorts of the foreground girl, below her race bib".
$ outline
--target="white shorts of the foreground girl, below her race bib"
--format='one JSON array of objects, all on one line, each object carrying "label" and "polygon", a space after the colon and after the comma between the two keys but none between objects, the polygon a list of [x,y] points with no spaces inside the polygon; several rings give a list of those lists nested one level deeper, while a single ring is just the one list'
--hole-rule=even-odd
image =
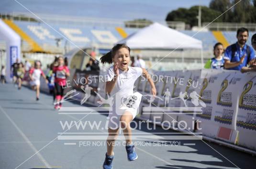
[{"label": "white shorts of the foreground girl, below her race bib", "polygon": [[120,127],[120,118],[122,116],[122,114],[125,111],[129,111],[132,115],[133,115],[133,119],[135,118],[135,116],[137,115],[137,110],[138,109],[134,109],[134,108],[127,108],[127,109],[118,109],[118,113],[116,113],[116,111],[110,111],[109,112],[109,116],[108,116],[108,127],[110,129],[118,129]]}]

